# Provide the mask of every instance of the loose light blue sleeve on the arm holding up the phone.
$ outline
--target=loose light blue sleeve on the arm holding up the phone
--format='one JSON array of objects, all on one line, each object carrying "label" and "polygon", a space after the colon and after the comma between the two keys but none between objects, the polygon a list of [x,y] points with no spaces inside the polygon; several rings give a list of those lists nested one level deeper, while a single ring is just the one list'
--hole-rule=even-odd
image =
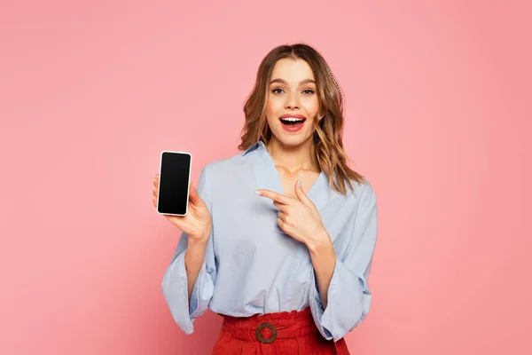
[{"label": "loose light blue sleeve on the arm holding up the phone", "polygon": [[[201,170],[198,181],[198,193],[201,199],[211,209],[211,193],[207,186],[207,167]],[[192,323],[207,311],[208,304],[213,296],[216,279],[215,253],[213,248],[213,233],[207,242],[205,258],[201,265],[200,273],[192,288],[192,296],[188,299],[188,282],[184,269],[184,253],[188,247],[188,235],[181,234],[171,262],[162,279],[162,293],[166,299],[170,312],[176,323],[185,334],[192,334]]]}]

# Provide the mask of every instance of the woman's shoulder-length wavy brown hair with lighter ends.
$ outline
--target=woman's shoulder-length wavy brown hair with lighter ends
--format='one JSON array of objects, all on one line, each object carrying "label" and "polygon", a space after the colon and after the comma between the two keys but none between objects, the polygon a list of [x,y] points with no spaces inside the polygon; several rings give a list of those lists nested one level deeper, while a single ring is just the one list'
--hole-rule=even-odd
[{"label": "woman's shoulder-length wavy brown hair with lighter ends", "polygon": [[321,170],[329,177],[329,185],[339,193],[353,191],[352,182],[364,183],[364,177],[348,167],[348,156],[341,140],[344,126],[343,95],[330,67],[322,55],[305,43],[280,45],[271,50],[257,71],[254,89],[246,98],[246,122],[241,132],[240,150],[246,150],[259,140],[268,144],[271,130],[266,121],[266,105],[271,73],[278,59],[303,59],[314,73],[319,98],[319,116],[314,120],[314,153]]}]

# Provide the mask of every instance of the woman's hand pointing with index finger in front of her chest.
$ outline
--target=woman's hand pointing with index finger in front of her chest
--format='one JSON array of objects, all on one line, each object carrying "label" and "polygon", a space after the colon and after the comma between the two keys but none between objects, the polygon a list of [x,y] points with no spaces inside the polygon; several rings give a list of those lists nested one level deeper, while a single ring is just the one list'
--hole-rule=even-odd
[{"label": "woman's hand pointing with index finger in front of her chest", "polygon": [[328,238],[314,202],[310,201],[298,183],[295,184],[294,191],[297,199],[270,190],[260,189],[255,193],[273,200],[273,204],[279,209],[279,227],[296,241],[309,247]]}]

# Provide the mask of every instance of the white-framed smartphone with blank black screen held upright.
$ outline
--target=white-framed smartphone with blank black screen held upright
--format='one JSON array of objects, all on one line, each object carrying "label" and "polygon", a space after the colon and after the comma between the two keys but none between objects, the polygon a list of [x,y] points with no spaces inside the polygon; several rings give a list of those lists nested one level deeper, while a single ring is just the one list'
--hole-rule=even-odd
[{"label": "white-framed smartphone with blank black screen held upright", "polygon": [[157,212],[161,215],[185,216],[188,212],[192,154],[162,151],[160,153]]}]

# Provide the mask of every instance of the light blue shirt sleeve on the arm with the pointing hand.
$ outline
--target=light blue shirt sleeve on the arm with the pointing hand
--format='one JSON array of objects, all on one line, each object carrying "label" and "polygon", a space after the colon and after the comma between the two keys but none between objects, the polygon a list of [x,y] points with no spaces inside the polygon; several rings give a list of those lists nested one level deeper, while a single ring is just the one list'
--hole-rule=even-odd
[{"label": "light blue shirt sleeve on the arm with the pointing hand", "polygon": [[361,324],[372,302],[368,278],[377,241],[377,204],[372,186],[366,182],[360,193],[355,224],[351,235],[336,249],[336,264],[327,290],[327,306],[324,310],[317,278],[313,270],[309,305],[321,335],[327,340],[340,340]]}]

